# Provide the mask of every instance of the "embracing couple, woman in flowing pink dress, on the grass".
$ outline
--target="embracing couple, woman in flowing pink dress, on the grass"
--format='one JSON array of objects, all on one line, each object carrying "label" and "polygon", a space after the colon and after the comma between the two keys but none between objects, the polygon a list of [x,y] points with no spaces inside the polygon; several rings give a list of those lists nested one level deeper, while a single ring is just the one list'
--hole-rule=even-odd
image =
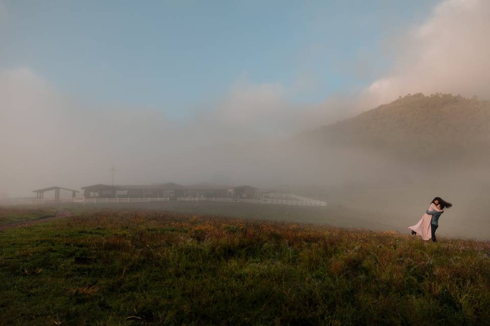
[{"label": "embracing couple, woman in flowing pink dress, on the grass", "polygon": [[453,206],[453,204],[448,203],[440,197],[434,198],[430,203],[429,209],[425,211],[425,214],[422,216],[419,223],[408,228],[412,230],[412,234],[418,234],[424,240],[432,239],[433,242],[436,242],[435,230],[439,226],[440,214],[444,213],[444,208],[449,208],[451,206]]}]

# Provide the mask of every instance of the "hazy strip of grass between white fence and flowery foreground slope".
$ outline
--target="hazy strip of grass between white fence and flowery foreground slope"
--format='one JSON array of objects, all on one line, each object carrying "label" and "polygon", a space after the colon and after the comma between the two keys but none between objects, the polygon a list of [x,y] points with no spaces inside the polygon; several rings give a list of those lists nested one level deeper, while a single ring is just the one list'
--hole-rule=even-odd
[{"label": "hazy strip of grass between white fence and flowery foreground slope", "polygon": [[[403,197],[404,193],[396,195]],[[337,227],[365,228],[369,230],[396,230],[409,233],[408,226],[416,224],[422,217],[426,207],[424,203],[410,204],[407,207],[397,208],[396,201],[387,201],[384,204],[369,204],[374,196],[363,201],[332,200],[328,206],[290,206],[290,205],[262,205],[246,203],[211,203],[211,202],[170,202],[170,203],[132,203],[132,204],[65,204],[57,207],[60,211],[71,211],[73,214],[82,212],[103,212],[106,209],[125,209],[132,211],[166,211],[182,212],[186,214],[205,214],[232,216],[235,218],[287,221],[293,223],[328,224]],[[406,194],[405,194],[406,195]],[[365,194],[364,194],[365,196]],[[383,197],[380,195],[380,197]],[[490,239],[490,220],[486,215],[467,214],[461,211],[461,204],[449,209],[443,214],[437,234],[453,238],[473,238],[479,240]],[[479,204],[481,211],[486,206],[483,201]],[[46,208],[46,207],[45,207]],[[54,208],[54,207],[52,207]],[[381,209],[382,208],[382,209]],[[26,208],[27,209],[27,208]],[[458,210],[459,209],[459,210]],[[1,210],[0,210],[1,211]],[[13,212],[13,214],[17,214]],[[19,215],[19,214],[17,214]],[[26,218],[26,216],[17,216]],[[2,219],[0,218],[0,225]]]}]

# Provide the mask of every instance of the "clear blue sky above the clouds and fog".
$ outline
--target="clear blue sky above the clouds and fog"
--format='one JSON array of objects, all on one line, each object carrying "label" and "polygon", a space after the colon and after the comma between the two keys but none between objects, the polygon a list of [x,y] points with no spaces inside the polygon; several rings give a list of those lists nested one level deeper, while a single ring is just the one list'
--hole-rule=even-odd
[{"label": "clear blue sky above the clouds and fog", "polygon": [[436,3],[4,0],[0,69],[29,67],[76,97],[174,117],[243,78],[315,103],[387,71],[386,40]]}]

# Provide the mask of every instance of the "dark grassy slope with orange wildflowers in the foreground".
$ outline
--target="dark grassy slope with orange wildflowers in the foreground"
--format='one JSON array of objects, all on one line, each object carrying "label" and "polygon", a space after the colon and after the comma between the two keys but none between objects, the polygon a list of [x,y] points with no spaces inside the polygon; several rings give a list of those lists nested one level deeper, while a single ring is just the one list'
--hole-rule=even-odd
[{"label": "dark grassy slope with orange wildflowers in the foreground", "polygon": [[0,231],[5,324],[490,323],[490,244],[107,210]]}]

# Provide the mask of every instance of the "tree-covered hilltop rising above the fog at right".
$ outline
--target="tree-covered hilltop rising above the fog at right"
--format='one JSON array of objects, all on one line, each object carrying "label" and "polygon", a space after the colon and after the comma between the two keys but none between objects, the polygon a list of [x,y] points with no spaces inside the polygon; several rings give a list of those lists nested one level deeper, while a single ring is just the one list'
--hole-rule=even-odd
[{"label": "tree-covered hilltop rising above the fog at right", "polygon": [[379,150],[403,159],[481,157],[490,145],[490,101],[409,94],[304,136],[322,145]]}]

